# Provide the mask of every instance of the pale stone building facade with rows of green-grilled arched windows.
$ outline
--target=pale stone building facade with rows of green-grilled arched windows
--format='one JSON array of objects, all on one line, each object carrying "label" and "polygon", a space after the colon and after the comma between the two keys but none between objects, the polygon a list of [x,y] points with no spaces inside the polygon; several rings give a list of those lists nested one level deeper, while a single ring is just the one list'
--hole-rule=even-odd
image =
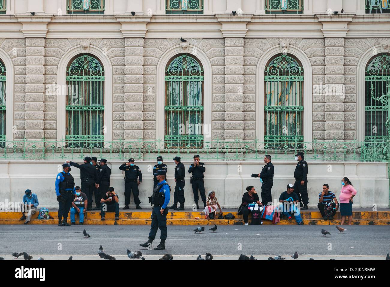
[{"label": "pale stone building facade with rows of green-grilled arched windows", "polygon": [[[250,175],[271,149],[285,166],[277,193],[291,182],[294,152],[305,150],[312,182],[327,176],[339,182],[351,173],[372,193],[361,206],[388,206],[388,105],[378,100],[390,76],[387,5],[0,0],[0,144],[8,150],[0,159],[9,185],[0,195],[23,189],[13,183],[18,168],[10,168],[12,162],[57,166],[70,156],[56,150],[38,157],[23,150],[26,141],[87,153],[106,148],[102,156],[118,142],[134,142],[145,148],[142,155],[124,151],[112,162],[131,154],[146,169],[169,148],[207,154],[220,148],[211,158],[226,193],[251,180],[243,171],[235,175],[229,161],[246,161]],[[156,147],[161,152],[151,151]],[[332,175],[328,162],[337,169]],[[39,176],[50,184],[46,166]],[[315,197],[318,187],[308,185]],[[239,198],[226,195],[225,205]]]}]

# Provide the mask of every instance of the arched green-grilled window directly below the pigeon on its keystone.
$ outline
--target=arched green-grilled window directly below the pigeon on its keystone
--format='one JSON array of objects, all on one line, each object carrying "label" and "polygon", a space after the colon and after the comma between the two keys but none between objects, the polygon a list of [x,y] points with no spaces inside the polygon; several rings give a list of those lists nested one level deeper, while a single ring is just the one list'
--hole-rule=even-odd
[{"label": "arched green-grilled window directly below the pigeon on its keystone", "polygon": [[194,56],[174,56],[165,67],[165,136],[170,146],[203,142],[203,67]]}]

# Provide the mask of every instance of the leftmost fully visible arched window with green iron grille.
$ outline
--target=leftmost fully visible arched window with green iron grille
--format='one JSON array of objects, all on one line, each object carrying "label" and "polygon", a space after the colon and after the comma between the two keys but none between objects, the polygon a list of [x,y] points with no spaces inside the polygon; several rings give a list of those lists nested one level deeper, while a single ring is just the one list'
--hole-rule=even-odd
[{"label": "leftmost fully visible arched window with green iron grille", "polygon": [[98,147],[104,143],[104,67],[94,56],[76,56],[67,67],[66,143]]}]

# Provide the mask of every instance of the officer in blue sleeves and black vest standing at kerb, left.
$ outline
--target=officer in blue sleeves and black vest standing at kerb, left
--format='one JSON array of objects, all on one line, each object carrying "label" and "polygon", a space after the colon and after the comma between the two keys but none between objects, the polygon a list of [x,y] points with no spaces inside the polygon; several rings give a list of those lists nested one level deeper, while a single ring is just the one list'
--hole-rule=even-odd
[{"label": "officer in blue sleeves and black vest standing at kerb, left", "polygon": [[74,189],[74,178],[69,173],[71,171],[70,164],[63,164],[62,168],[64,170],[58,173],[55,180],[55,194],[58,201],[58,226],[71,226],[66,221],[72,201],[76,198],[76,190]]}]

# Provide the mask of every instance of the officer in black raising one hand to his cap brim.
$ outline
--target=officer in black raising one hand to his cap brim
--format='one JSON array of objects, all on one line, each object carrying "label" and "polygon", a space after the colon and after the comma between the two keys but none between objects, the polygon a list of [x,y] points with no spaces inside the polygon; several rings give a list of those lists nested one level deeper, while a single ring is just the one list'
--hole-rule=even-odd
[{"label": "officer in black raising one hand to his cap brim", "polygon": [[[129,162],[125,162],[122,164],[119,169],[124,170],[125,178],[124,178],[124,209],[129,209],[131,191],[133,191],[134,196],[134,204],[137,205],[136,209],[142,209],[140,207],[140,199],[138,196],[140,195],[140,191],[138,190],[138,185],[142,182],[142,173],[139,166],[134,164],[134,159],[129,159]],[[140,181],[138,183],[138,177]]]}]

